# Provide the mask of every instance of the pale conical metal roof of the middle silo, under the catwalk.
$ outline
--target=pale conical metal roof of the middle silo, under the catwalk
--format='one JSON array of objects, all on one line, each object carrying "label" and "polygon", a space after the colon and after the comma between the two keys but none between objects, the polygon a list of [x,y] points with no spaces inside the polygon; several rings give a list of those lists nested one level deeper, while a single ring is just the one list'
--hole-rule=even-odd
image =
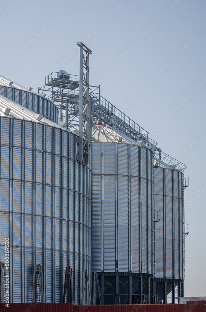
[{"label": "pale conical metal roof of the middle silo, under the catwalk", "polygon": [[91,141],[107,142],[107,143],[120,143],[120,144],[133,144],[140,145],[132,139],[124,136],[122,133],[118,133],[113,129],[106,127],[104,124],[98,123],[91,129]]}]

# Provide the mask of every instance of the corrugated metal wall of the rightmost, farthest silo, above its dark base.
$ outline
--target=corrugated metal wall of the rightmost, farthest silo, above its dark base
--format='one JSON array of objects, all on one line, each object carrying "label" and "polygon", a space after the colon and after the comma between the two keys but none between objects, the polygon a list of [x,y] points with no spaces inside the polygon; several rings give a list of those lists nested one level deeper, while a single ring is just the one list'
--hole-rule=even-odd
[{"label": "corrugated metal wall of the rightmost, farthest silo, above its dark base", "polygon": [[155,226],[156,278],[183,280],[183,177],[177,170],[155,170],[155,211],[161,219]]}]

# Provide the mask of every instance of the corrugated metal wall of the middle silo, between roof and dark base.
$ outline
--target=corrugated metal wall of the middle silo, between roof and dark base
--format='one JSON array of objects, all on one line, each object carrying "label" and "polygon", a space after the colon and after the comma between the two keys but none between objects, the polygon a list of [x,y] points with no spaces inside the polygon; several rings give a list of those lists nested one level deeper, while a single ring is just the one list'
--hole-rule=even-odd
[{"label": "corrugated metal wall of the middle silo, between roof and dark base", "polygon": [[152,152],[92,144],[92,270],[152,274]]}]

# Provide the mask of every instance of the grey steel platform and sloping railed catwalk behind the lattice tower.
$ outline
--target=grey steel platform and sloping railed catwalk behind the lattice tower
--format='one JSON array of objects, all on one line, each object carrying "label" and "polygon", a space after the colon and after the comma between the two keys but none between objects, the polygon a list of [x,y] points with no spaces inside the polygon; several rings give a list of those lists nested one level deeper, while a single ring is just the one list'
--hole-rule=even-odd
[{"label": "grey steel platform and sloping railed catwalk behind the lattice tower", "polygon": [[[60,117],[60,120],[65,119],[68,124],[67,128],[77,130],[79,124],[79,76],[52,72],[45,78],[45,85],[39,88],[39,92],[40,90],[49,92],[47,98],[58,102],[57,105],[61,113],[63,112],[63,117]],[[90,86],[89,96],[91,125],[103,122],[134,141],[142,141],[144,145],[157,145],[157,142],[149,139],[149,133],[145,129],[100,96],[100,86]],[[67,119],[66,110],[69,117],[73,116],[72,118]]]}]

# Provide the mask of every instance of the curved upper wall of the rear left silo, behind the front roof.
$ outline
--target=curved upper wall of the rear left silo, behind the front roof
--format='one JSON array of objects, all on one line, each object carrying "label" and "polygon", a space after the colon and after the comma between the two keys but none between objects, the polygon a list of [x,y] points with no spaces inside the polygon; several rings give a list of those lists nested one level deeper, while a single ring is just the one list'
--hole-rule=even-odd
[{"label": "curved upper wall of the rear left silo, behind the front roof", "polygon": [[0,94],[56,123],[59,121],[57,106],[38,94],[6,86],[0,86]]}]

